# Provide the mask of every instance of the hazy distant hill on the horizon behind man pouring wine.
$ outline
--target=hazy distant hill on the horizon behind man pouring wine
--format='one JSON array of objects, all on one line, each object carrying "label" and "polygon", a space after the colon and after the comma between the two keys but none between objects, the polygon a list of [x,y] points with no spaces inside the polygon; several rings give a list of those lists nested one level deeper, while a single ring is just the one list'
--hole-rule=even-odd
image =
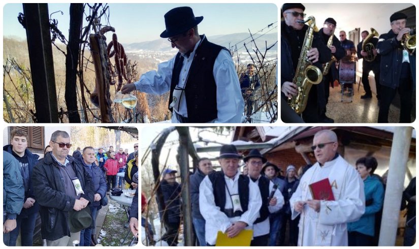
[{"label": "hazy distant hill on the horizon behind man pouring wine", "polygon": [[[229,48],[229,46],[233,46],[236,43],[237,48],[239,51],[244,51],[245,48],[243,44],[246,42],[247,48],[251,48],[251,44],[247,44],[250,42],[250,35],[248,33],[237,33],[237,34],[230,34],[230,35],[218,35],[218,36],[210,36],[208,40],[212,43],[224,46]],[[261,34],[256,34],[253,36],[253,39],[261,36]],[[245,40],[246,39],[246,40]],[[244,41],[243,41],[244,40]],[[265,51],[265,42],[267,42],[268,47],[273,45],[275,42],[278,41],[278,33],[272,34],[265,34],[262,37],[255,40],[257,47],[260,50]],[[167,39],[157,39],[154,41],[148,42],[138,42],[138,43],[131,43],[131,44],[123,44],[126,52],[141,52],[141,51],[152,51],[152,52],[177,52],[176,48],[172,48],[170,43]],[[278,44],[276,44],[271,51],[277,51]]]}]

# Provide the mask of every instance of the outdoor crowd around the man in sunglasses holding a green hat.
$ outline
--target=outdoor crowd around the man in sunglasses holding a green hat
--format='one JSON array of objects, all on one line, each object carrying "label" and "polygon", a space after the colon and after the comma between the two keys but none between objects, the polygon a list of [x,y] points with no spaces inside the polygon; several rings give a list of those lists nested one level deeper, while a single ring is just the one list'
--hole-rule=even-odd
[{"label": "outdoor crowd around the man in sunglasses holding a green hat", "polygon": [[[3,147],[3,242],[7,246],[33,246],[35,223],[41,216],[41,235],[47,246],[98,244],[95,220],[108,205],[109,192],[120,191],[116,174],[125,172],[125,188],[136,190],[130,227],[138,237],[138,143],[134,152],[113,146],[78,147],[73,156],[70,135],[55,131],[44,157],[28,148],[28,135],[15,128]],[[20,234],[21,241],[17,241]]]}]

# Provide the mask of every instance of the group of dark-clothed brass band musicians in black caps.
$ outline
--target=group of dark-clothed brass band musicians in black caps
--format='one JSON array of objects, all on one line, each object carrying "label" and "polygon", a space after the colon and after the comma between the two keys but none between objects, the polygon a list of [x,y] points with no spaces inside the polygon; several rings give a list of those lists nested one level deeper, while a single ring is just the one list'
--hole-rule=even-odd
[{"label": "group of dark-clothed brass band musicians in black caps", "polygon": [[[326,116],[329,89],[334,87],[335,81],[341,81],[341,85],[349,81],[343,77],[341,80],[339,72],[352,72],[354,76],[354,65],[358,59],[363,59],[362,83],[365,95],[361,96],[361,99],[372,98],[368,75],[370,71],[374,72],[379,108],[377,121],[389,122],[390,105],[398,91],[401,102],[399,121],[411,122],[416,52],[415,49],[406,46],[411,29],[406,27],[407,16],[404,13],[392,14],[389,18],[391,29],[379,38],[374,38],[377,35],[375,30],[371,29],[371,34],[368,30],[363,30],[362,41],[355,46],[346,38],[344,30],[339,32],[339,39],[334,35],[337,22],[332,17],[323,22],[323,27],[318,32],[311,24],[311,29],[314,30],[310,33],[312,35],[307,37],[310,22],[304,22],[305,6],[299,3],[283,4],[281,10],[284,18],[281,21],[281,118],[284,122],[334,122]],[[305,41],[310,41],[311,44],[303,44]],[[302,52],[304,56],[300,57]],[[348,70],[338,70],[338,64],[340,68]],[[319,70],[318,84],[303,83],[304,79],[314,79],[313,74],[300,77],[310,66]],[[355,81],[353,78],[352,83]],[[311,89],[308,85],[312,85]],[[350,84],[348,87],[353,86]],[[305,89],[309,89],[308,94]],[[289,100],[296,97],[301,98],[298,99],[298,108],[306,103],[301,116],[297,115],[300,114],[297,108],[288,105]]]}]

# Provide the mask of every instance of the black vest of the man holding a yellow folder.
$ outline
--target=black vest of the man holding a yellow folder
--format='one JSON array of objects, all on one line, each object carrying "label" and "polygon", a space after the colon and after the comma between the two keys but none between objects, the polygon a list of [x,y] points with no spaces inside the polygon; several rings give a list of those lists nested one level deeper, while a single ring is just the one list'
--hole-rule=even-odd
[{"label": "black vest of the man holding a yellow folder", "polygon": [[225,213],[229,217],[237,217],[241,216],[245,211],[247,211],[249,205],[249,177],[244,175],[239,175],[239,197],[240,197],[240,205],[243,211],[236,211],[231,216],[229,213],[224,211],[225,209],[225,179],[224,173],[217,171],[212,174],[208,175],[212,183],[212,189],[214,193],[214,201],[215,205],[220,208],[220,211]]}]

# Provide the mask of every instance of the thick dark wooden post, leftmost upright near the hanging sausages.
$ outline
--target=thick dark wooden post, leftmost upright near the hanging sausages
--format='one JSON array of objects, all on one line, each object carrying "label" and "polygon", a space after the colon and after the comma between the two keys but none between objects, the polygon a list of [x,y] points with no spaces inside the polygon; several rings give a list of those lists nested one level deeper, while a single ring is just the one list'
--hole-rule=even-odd
[{"label": "thick dark wooden post, leftmost upright near the hanging sausages", "polygon": [[23,4],[37,121],[58,123],[48,4]]}]

